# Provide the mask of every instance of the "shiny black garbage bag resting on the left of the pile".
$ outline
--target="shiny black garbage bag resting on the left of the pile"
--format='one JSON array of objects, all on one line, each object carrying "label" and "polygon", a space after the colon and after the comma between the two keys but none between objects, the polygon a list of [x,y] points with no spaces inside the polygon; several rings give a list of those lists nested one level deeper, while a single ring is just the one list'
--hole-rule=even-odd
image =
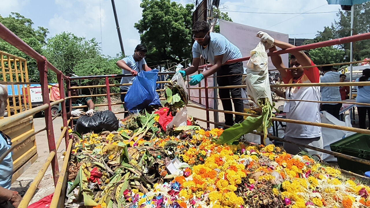
[{"label": "shiny black garbage bag resting on the left of the pile", "polygon": [[119,127],[119,121],[112,111],[98,111],[94,115],[83,115],[78,118],[74,130],[78,133],[86,134],[94,131],[99,133],[102,131],[116,131]]}]

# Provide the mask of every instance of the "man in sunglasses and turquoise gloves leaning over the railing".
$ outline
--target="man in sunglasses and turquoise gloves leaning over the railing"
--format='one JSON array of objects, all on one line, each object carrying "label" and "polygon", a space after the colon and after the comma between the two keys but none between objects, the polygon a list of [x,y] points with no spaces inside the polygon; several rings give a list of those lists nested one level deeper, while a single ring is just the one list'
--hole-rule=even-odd
[{"label": "man in sunglasses and turquoise gloves leaning over the railing", "polygon": [[[242,85],[242,74],[244,70],[242,62],[240,61],[233,64],[222,65],[228,60],[242,58],[239,48],[230,43],[230,41],[223,35],[219,33],[211,33],[206,21],[196,21],[193,25],[192,33],[195,40],[192,48],[193,61],[189,68],[184,71],[180,71],[180,73],[182,76],[195,73],[198,70],[201,55],[206,60],[206,63],[212,64],[212,66],[201,74],[190,77],[191,80],[189,81],[189,84],[197,85],[205,77],[211,76],[217,72],[217,76],[224,76],[217,77],[218,86]],[[242,90],[241,88],[219,89],[219,97],[221,99],[225,98],[221,100],[223,110],[225,111],[233,110],[230,94],[232,98],[241,98]],[[233,103],[235,111],[242,113],[243,100],[233,99]],[[233,124],[240,123],[242,121],[242,115],[235,115],[234,121],[232,114],[225,113],[226,125],[232,126]]]}]

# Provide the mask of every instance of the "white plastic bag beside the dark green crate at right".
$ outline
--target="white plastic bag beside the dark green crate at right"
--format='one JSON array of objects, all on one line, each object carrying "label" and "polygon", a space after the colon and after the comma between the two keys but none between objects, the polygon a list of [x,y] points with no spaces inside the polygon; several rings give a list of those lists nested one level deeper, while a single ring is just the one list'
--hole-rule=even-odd
[{"label": "white plastic bag beside the dark green crate at right", "polygon": [[[346,120],[348,117],[349,116],[347,115]],[[339,125],[339,126],[349,126],[350,125],[351,127],[350,122],[349,124],[347,124],[346,122],[339,121],[336,117],[334,117],[330,113],[327,113],[326,111],[322,112],[321,123],[334,124],[334,125]],[[355,134],[355,132],[351,132],[351,131],[337,130],[333,128],[324,128],[324,127],[321,128],[321,132],[322,132],[322,137],[323,137],[323,142],[324,142],[324,149],[329,150],[329,151],[332,151],[330,149],[330,144],[336,141],[339,141],[342,138]],[[322,154],[321,159],[326,162],[336,162],[337,161],[337,158],[335,158],[333,155],[329,155],[325,153]]]}]

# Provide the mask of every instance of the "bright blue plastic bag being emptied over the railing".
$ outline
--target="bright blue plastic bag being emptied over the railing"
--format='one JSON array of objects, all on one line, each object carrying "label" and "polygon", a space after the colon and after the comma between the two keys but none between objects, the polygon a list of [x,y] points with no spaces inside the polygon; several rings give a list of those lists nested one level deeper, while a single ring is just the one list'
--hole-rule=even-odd
[{"label": "bright blue plastic bag being emptied over the railing", "polygon": [[157,87],[158,69],[140,71],[132,81],[125,96],[125,107],[131,113],[144,110],[149,105],[162,106],[159,95],[155,91]]}]

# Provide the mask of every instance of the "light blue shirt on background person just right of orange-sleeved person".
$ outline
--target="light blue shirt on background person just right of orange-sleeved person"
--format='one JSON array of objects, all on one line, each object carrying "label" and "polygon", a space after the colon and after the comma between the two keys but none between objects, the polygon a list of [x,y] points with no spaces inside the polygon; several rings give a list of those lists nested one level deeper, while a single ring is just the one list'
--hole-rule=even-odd
[{"label": "light blue shirt on background person just right of orange-sleeved person", "polygon": [[[340,73],[328,71],[320,78],[322,83],[339,82]],[[321,87],[321,101],[341,101],[339,87]],[[329,104],[335,105],[335,104]]]}]

